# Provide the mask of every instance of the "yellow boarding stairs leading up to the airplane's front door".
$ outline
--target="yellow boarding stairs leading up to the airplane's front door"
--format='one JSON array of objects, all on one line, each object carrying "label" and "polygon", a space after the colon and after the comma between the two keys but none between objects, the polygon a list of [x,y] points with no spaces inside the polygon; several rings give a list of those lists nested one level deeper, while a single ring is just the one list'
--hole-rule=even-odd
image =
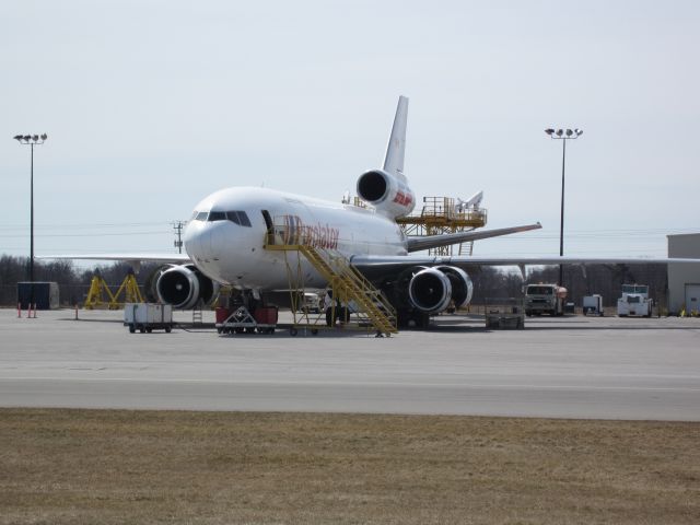
[{"label": "yellow boarding stairs leading up to the airplane's front door", "polygon": [[[268,241],[272,235],[268,235]],[[272,238],[273,241],[273,238]],[[353,268],[343,256],[325,252],[305,244],[275,244],[268,243],[266,249],[280,252],[298,252],[303,255],[314,268],[328,281],[334,291],[334,299],[341,303],[354,302],[360,312],[366,315],[366,320],[377,334],[397,334],[396,311],[380,290],[368,281],[362,273]],[[294,279],[290,272],[290,284]],[[299,288],[299,282],[296,283]]]}]

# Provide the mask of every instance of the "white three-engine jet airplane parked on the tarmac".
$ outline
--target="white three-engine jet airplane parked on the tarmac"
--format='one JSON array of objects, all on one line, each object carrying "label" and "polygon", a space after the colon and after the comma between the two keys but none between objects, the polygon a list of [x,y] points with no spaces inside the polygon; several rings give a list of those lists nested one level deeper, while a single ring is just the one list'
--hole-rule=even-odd
[{"label": "white three-engine jet airplane parked on the tarmac", "polygon": [[[472,284],[467,270],[479,265],[689,262],[690,259],[579,257],[433,257],[415,254],[440,246],[525,232],[539,223],[498,230],[408,237],[396,223],[416,196],[404,174],[408,98],[399,97],[384,165],[360,175],[358,196],[370,207],[314,199],[258,187],[222,189],[201,200],[184,233],[187,255],[95,255],[71,258],[168,262],[155,277],[158,299],[191,308],[214,299],[228,284],[256,299],[289,290],[284,254],[265,249],[270,235],[285,244],[335,250],[380,288],[399,324],[424,326],[431,315],[467,305]],[[696,260],[695,262],[700,262]],[[301,260],[304,284],[326,287],[314,266]]]}]

